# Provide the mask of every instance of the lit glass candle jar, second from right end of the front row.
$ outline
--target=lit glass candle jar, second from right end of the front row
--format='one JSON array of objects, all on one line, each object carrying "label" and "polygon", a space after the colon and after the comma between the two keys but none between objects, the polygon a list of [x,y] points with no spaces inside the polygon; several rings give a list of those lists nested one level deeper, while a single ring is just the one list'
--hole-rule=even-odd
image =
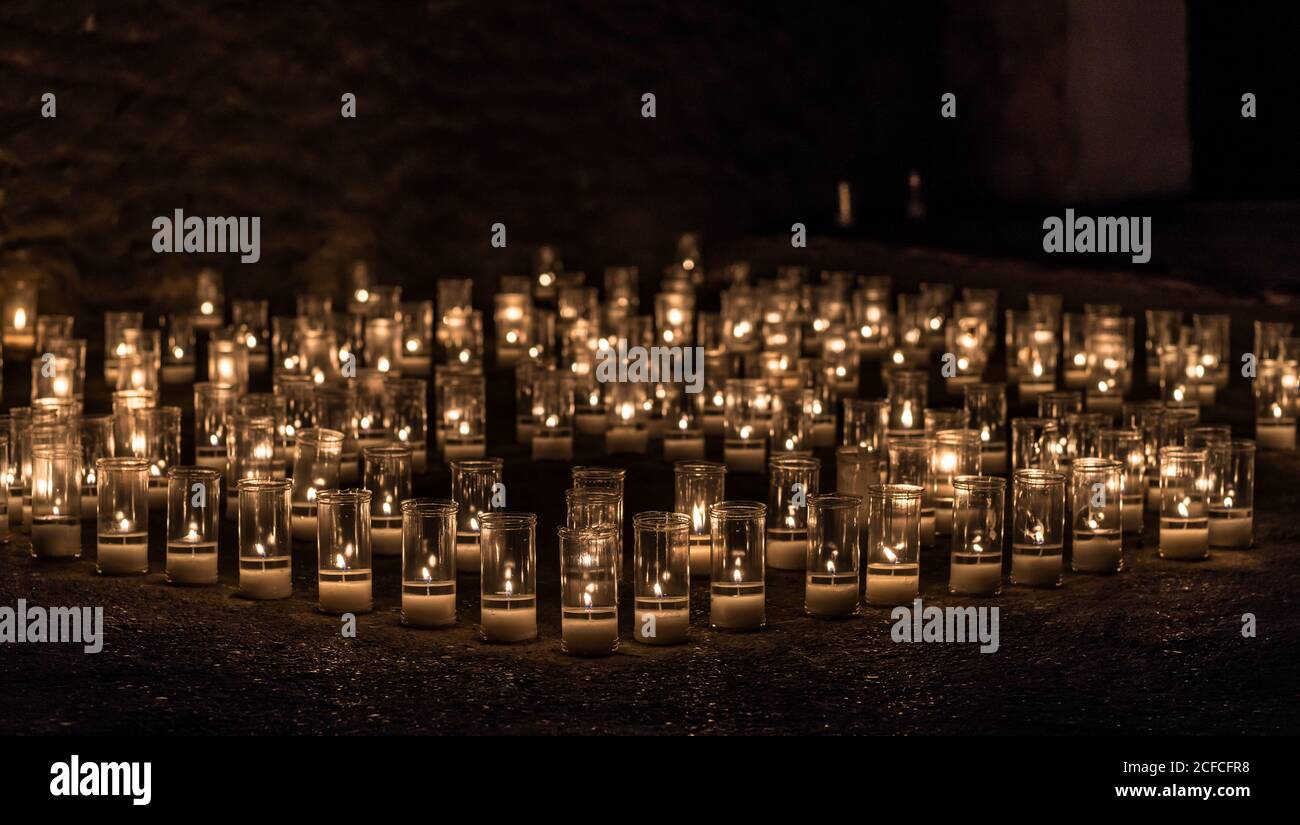
[{"label": "lit glass candle jar, second from right end of the front row", "polygon": [[1209,453],[1191,447],[1160,451],[1160,557],[1210,555]]}]

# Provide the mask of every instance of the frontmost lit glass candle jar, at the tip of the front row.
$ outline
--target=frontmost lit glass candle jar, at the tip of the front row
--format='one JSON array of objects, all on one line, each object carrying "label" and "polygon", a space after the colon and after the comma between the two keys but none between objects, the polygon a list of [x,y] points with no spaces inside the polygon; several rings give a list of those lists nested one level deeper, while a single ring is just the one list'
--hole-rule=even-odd
[{"label": "frontmost lit glass candle jar, at the tip of the front row", "polygon": [[619,650],[614,525],[559,527],[560,650],[608,656]]}]

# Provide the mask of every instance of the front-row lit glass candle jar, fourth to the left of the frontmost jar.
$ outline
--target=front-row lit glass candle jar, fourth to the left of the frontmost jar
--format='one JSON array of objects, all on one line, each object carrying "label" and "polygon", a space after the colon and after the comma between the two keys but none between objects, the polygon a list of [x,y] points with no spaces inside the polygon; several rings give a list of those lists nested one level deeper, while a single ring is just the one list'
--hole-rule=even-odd
[{"label": "front-row lit glass candle jar, fourth to the left of the frontmost jar", "polygon": [[239,594],[287,599],[292,592],[292,533],[287,478],[238,481]]}]

